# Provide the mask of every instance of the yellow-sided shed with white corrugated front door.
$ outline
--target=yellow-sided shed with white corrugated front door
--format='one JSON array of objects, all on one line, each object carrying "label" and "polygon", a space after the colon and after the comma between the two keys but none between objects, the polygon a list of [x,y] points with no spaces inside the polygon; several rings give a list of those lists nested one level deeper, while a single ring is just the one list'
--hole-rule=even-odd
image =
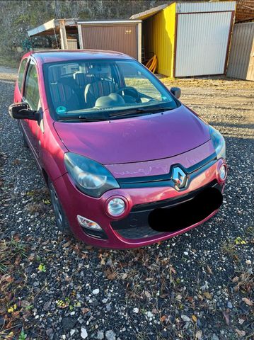
[{"label": "yellow-sided shed with white corrugated front door", "polygon": [[236,1],[171,4],[137,13],[142,49],[157,55],[157,72],[168,77],[225,74]]}]

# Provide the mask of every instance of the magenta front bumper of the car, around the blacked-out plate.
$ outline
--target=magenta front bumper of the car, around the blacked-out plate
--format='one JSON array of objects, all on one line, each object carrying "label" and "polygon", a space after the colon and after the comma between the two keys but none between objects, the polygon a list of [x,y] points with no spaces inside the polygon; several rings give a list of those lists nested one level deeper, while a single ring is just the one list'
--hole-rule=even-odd
[{"label": "magenta front bumper of the car, around the blacked-out plate", "polygon": [[[146,246],[174,237],[200,225],[212,217],[217,210],[209,213],[202,220],[195,221],[183,229],[173,232],[156,232],[148,224],[149,213],[154,208],[168,208],[171,205],[182,204],[195,197],[196,193],[207,187],[224,190],[224,181],[219,179],[219,168],[223,159],[212,159],[204,166],[192,169],[192,174],[183,190],[176,190],[170,182],[161,181],[155,186],[140,183],[126,184],[125,188],[113,189],[100,198],[91,198],[81,193],[71,181],[68,174],[54,182],[57,194],[66,212],[71,229],[83,242],[94,246],[110,249],[128,249]],[[128,186],[134,186],[128,187]],[[125,213],[121,217],[110,217],[105,209],[106,202],[112,197],[122,197],[127,203]],[[77,215],[92,220],[103,229],[103,232],[89,232],[83,229],[77,221]]]}]

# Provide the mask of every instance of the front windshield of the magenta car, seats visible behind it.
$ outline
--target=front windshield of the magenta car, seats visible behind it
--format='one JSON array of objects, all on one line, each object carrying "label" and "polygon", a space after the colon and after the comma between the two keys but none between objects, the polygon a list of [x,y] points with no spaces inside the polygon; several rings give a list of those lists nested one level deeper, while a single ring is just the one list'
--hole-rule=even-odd
[{"label": "front windshield of the magenta car, seats visible behind it", "polygon": [[135,60],[44,64],[50,111],[57,120],[105,120],[172,110],[178,101]]}]

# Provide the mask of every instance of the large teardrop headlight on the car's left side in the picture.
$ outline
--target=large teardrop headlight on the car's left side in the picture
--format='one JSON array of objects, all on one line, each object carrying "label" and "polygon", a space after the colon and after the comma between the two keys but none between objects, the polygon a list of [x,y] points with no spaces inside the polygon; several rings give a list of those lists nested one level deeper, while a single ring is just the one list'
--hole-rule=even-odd
[{"label": "large teardrop headlight on the car's left side in the picture", "polygon": [[67,152],[64,164],[77,188],[88,196],[98,198],[110,189],[120,188],[110,171],[92,159]]}]

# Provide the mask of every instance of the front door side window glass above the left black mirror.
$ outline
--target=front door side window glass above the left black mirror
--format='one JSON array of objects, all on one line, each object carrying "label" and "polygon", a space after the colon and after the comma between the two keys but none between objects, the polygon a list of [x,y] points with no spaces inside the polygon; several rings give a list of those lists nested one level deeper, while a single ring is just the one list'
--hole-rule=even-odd
[{"label": "front door side window glass above the left black mirror", "polygon": [[28,102],[32,110],[37,110],[40,94],[37,79],[36,67],[33,62],[30,62],[28,66],[28,72],[25,77],[25,89],[24,89],[25,101]]}]

